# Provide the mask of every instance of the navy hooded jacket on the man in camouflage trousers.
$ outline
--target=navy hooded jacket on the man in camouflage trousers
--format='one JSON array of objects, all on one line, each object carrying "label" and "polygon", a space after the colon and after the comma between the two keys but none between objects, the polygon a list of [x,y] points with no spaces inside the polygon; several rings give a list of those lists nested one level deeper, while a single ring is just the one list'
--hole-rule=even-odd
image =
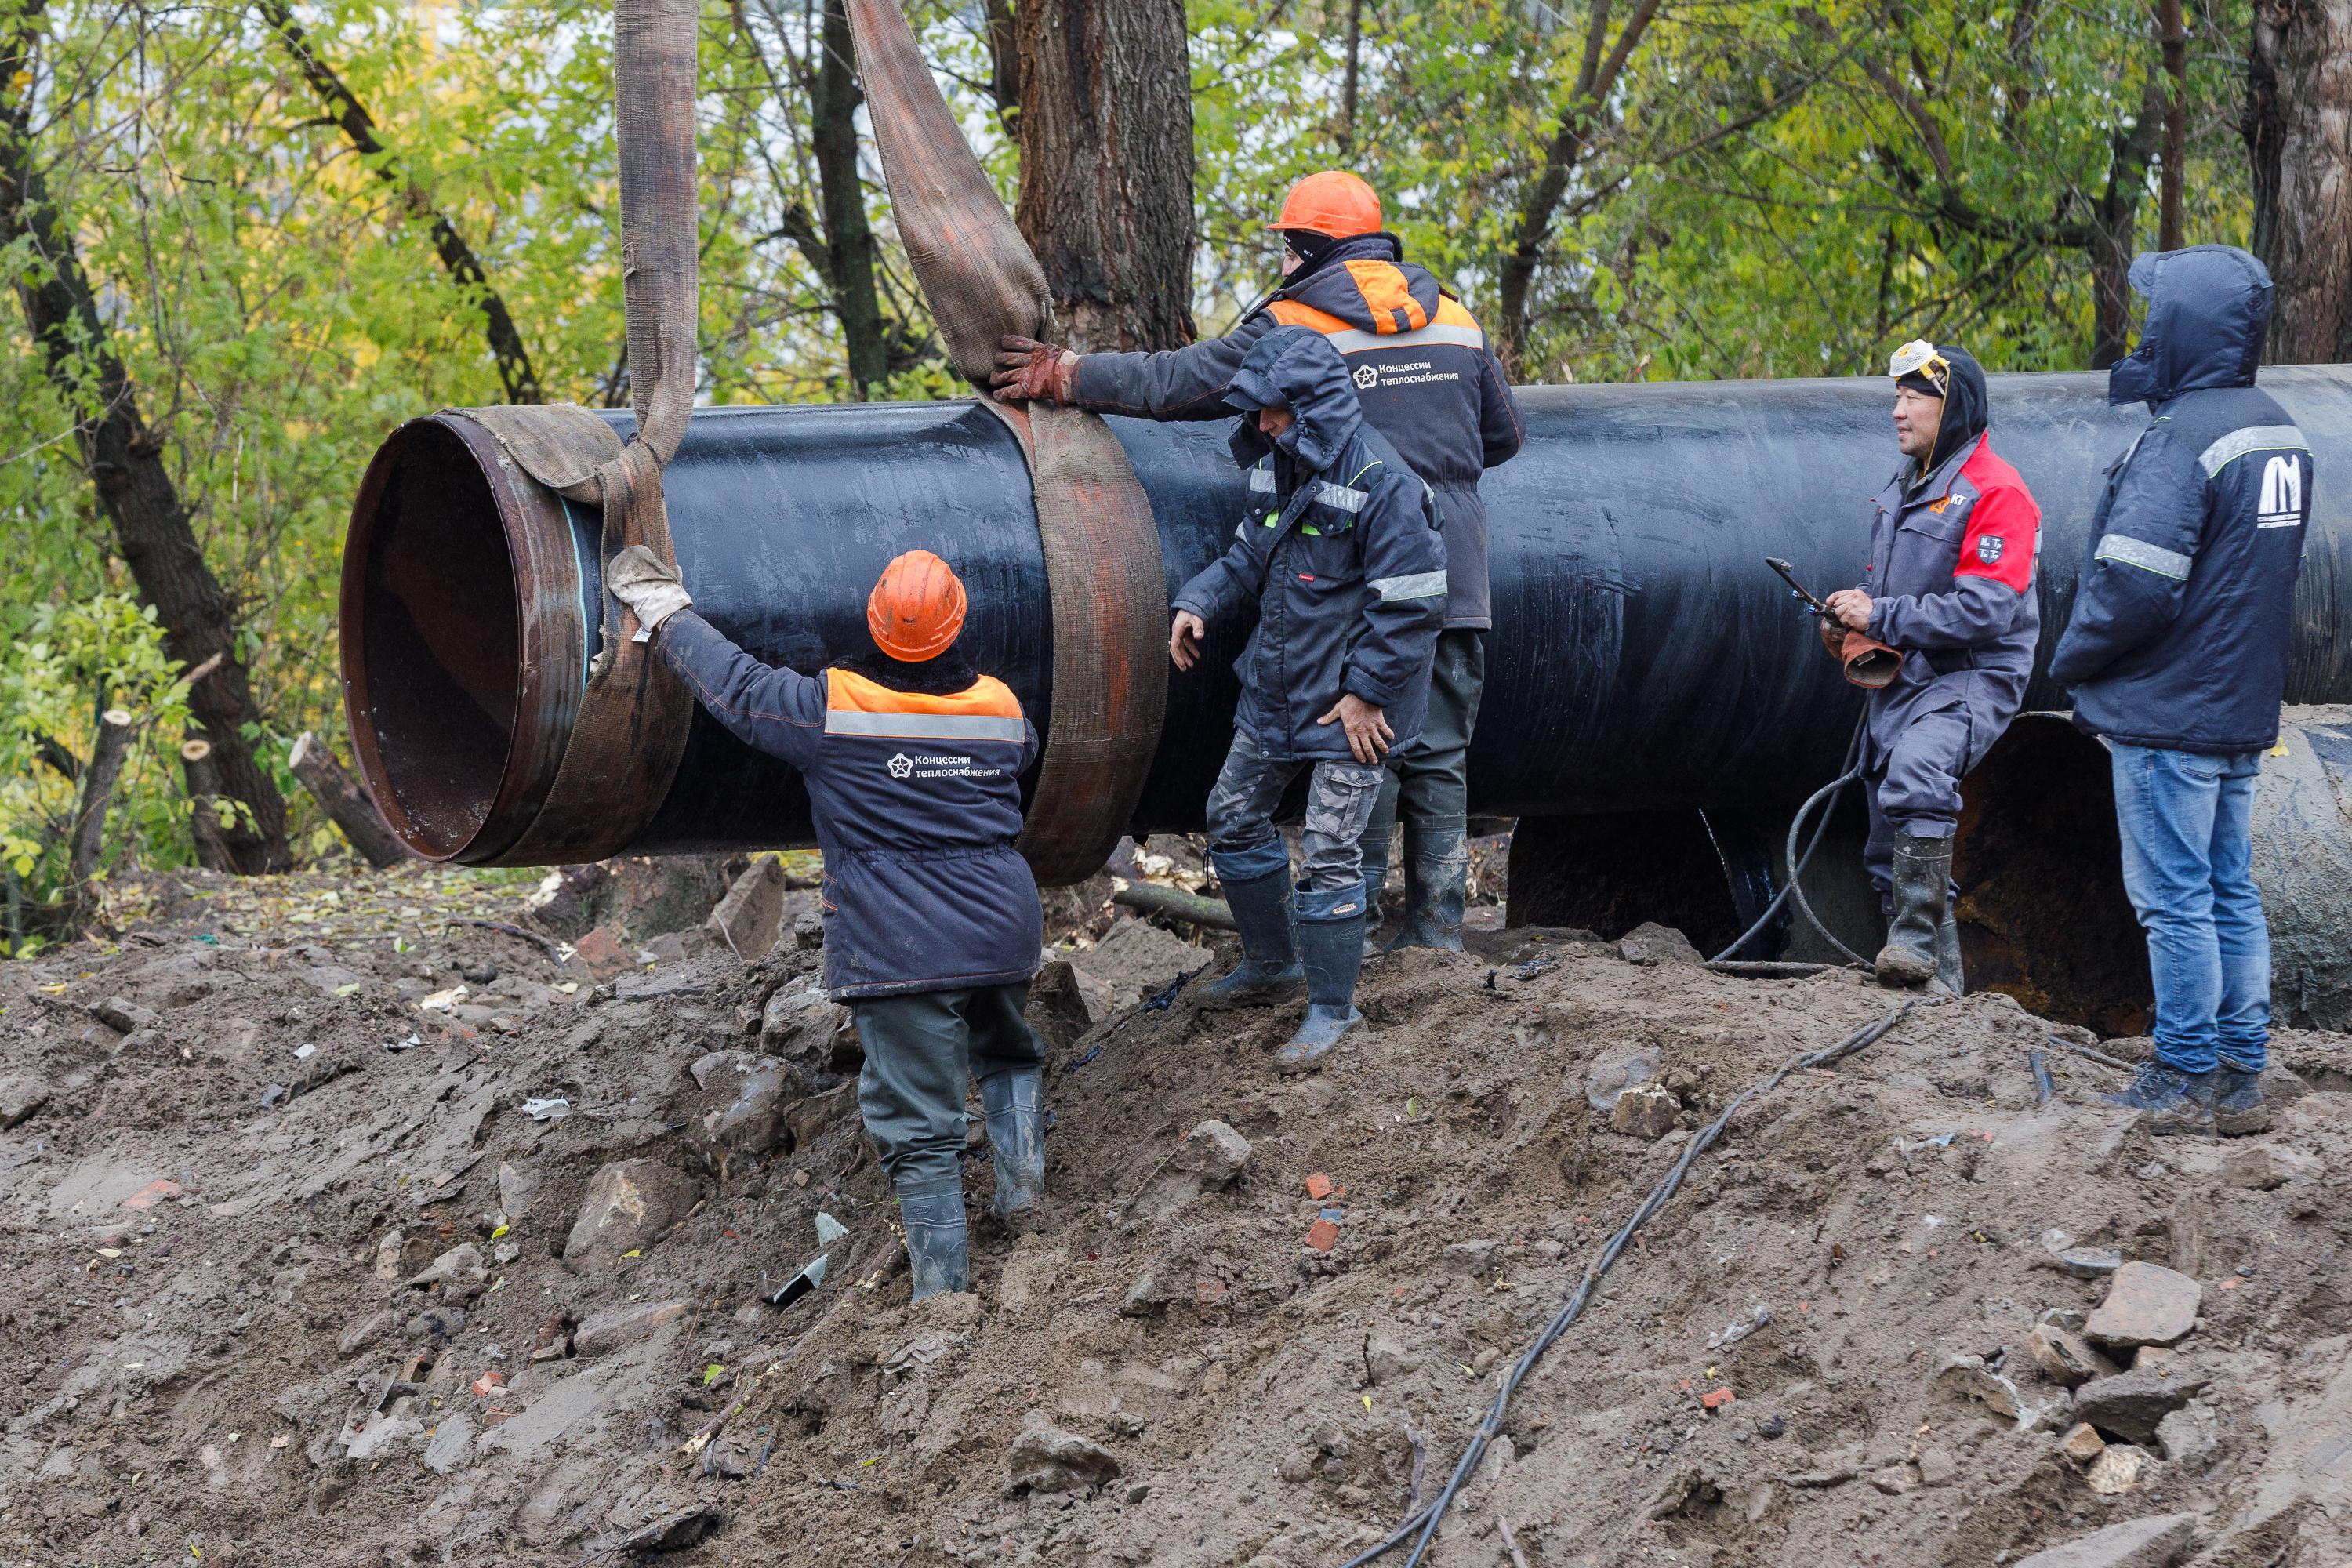
[{"label": "navy hooded jacket on the man in camouflage trousers", "polygon": [[1268,757],[1350,759],[1348,731],[1317,724],[1348,691],[1383,710],[1402,750],[1430,708],[1430,661],[1446,604],[1437,498],[1364,423],[1348,364],[1317,331],[1258,339],[1228,390],[1232,409],[1289,409],[1275,442],[1242,418],[1232,456],[1249,468],[1249,515],[1225,555],[1176,592],[1202,621],[1258,602],[1258,630],[1232,665],[1235,724]]}]

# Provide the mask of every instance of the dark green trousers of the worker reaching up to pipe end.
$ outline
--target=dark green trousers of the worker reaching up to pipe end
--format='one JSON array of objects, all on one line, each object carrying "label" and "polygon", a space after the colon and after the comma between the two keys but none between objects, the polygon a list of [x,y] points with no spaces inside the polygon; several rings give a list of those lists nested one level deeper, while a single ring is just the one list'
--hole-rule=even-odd
[{"label": "dark green trousers of the worker reaching up to pipe end", "polygon": [[866,1046],[858,1112],[894,1185],[910,1192],[960,1187],[964,1074],[988,1079],[1044,1063],[1044,1041],[1028,1027],[1025,1006],[1028,980],[849,1004]]}]

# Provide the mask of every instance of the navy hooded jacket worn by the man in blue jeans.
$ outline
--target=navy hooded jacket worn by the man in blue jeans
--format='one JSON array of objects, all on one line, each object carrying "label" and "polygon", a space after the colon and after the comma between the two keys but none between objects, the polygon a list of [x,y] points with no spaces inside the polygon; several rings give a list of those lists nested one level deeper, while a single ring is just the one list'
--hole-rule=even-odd
[{"label": "navy hooded jacket worn by the man in blue jeans", "polygon": [[2143,254],[2147,331],[2107,374],[2110,402],[2154,421],[2107,470],[2091,559],[2051,679],[2074,724],[2180,752],[2279,738],[2312,449],[2253,386],[2270,273],[2241,249]]}]

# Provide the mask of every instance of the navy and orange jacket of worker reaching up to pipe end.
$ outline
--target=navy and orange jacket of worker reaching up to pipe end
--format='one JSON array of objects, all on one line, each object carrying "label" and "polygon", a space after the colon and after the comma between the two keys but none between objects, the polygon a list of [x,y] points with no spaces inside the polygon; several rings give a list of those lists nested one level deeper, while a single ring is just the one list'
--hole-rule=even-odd
[{"label": "navy and orange jacket of worker reaching up to pipe end", "polygon": [[927,693],[842,668],[776,670],[691,609],[659,639],[713,719],[809,785],[835,1001],[1037,973],[1044,910],[1014,849],[1037,731],[1004,682]]}]

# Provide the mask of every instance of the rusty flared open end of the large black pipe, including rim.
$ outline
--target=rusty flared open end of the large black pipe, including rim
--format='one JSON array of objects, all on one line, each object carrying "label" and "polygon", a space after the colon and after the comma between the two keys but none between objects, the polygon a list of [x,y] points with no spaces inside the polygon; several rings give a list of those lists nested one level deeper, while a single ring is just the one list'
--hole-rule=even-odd
[{"label": "rusty flared open end of the large black pipe, including rim", "polygon": [[581,522],[461,414],[376,449],[343,543],[343,712],[426,860],[487,865],[539,816],[586,684]]}]

